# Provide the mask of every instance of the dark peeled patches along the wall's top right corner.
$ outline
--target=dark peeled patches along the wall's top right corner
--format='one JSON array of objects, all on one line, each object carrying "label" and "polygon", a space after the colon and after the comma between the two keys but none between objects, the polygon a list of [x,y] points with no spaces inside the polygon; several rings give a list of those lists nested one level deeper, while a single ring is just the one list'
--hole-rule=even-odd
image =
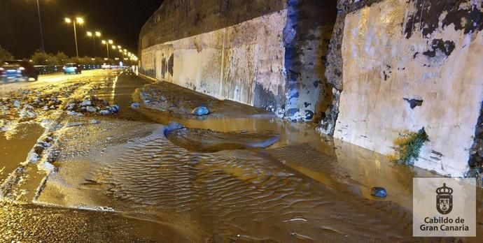
[{"label": "dark peeled patches along the wall's top right corner", "polygon": [[406,38],[411,38],[415,30],[421,30],[423,36],[432,34],[439,28],[440,15],[444,12],[447,14],[442,20],[443,28],[454,24],[454,29],[463,30],[464,34],[481,31],[483,13],[479,6],[474,3],[460,9],[461,3],[468,3],[468,0],[414,0],[416,11],[408,16],[404,30]]}]

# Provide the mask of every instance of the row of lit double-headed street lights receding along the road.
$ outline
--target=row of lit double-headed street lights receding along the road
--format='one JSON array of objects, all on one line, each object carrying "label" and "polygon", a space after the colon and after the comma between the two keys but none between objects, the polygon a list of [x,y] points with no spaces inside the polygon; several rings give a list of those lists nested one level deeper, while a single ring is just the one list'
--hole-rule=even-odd
[{"label": "row of lit double-headed street lights receding along the road", "polygon": [[[78,50],[78,45],[77,45],[77,30],[76,30],[76,24],[82,25],[84,24],[84,19],[82,17],[76,17],[75,19],[71,19],[70,17],[66,17],[64,19],[64,22],[67,24],[73,25],[73,38],[76,43],[76,57],[79,57],[79,50]],[[102,36],[100,31],[87,31],[87,36],[92,38],[92,41],[94,43],[94,52],[95,52],[95,38],[100,38]],[[131,52],[128,52],[126,49],[123,49],[122,46],[120,45],[114,45],[113,40],[102,40],[102,44],[106,45],[106,52],[107,52],[107,59],[110,59],[109,57],[109,45],[111,45],[111,48],[113,50],[119,50],[121,55],[123,56],[123,60],[131,60],[131,61],[137,61],[138,58]],[[125,57],[127,56],[127,57]]]}]

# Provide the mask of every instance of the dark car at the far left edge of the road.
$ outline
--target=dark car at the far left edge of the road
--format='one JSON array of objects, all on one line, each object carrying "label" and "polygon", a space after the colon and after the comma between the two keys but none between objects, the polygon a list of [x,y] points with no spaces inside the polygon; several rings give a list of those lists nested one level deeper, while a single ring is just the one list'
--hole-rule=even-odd
[{"label": "dark car at the far left edge of the road", "polygon": [[[19,74],[20,77],[17,77]],[[3,61],[0,64],[0,75],[6,79],[13,79],[13,76],[15,76],[15,80],[23,79],[28,81],[31,78],[38,80],[38,71],[34,68],[34,65],[29,63],[29,61],[23,60]]]}]

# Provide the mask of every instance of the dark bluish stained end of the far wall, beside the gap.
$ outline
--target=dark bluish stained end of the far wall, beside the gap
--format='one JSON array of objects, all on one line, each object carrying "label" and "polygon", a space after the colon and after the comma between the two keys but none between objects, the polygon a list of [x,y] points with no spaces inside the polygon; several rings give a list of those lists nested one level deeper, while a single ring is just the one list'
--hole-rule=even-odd
[{"label": "dark bluish stained end of the far wall, beside the gap", "polygon": [[[336,1],[288,0],[283,29],[286,73],[286,117],[309,121],[325,110],[325,55],[337,17]],[[327,37],[325,37],[327,36]],[[316,54],[312,54],[315,52]],[[310,53],[309,55],[307,55]],[[300,108],[304,110],[300,110]],[[322,107],[322,108],[321,108]],[[300,113],[302,112],[302,113]]]}]

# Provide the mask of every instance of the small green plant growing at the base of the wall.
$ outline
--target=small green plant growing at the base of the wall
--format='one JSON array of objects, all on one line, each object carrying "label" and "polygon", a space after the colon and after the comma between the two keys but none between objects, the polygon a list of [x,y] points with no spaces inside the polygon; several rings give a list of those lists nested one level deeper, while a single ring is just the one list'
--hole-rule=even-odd
[{"label": "small green plant growing at the base of the wall", "polygon": [[421,147],[424,142],[429,141],[428,134],[424,128],[419,129],[417,133],[404,133],[400,135],[400,139],[396,141],[398,156],[394,159],[394,163],[413,165],[414,160],[419,157]]}]

